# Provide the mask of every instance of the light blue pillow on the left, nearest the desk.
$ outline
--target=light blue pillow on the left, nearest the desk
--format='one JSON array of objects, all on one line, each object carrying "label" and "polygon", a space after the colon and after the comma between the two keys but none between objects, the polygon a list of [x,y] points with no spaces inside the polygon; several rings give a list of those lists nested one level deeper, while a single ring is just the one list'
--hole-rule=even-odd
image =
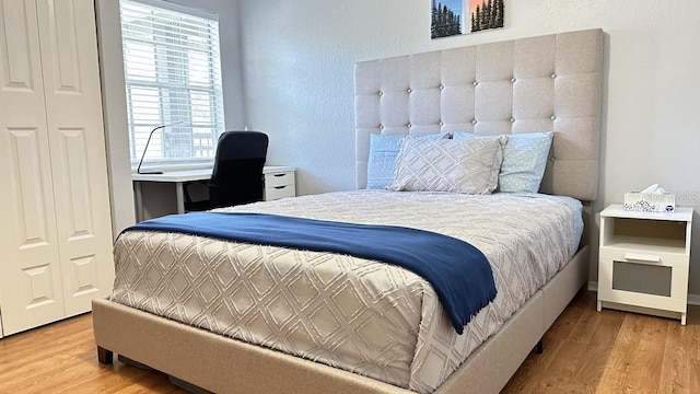
[{"label": "light blue pillow on the left, nearest the desk", "polygon": [[448,132],[424,136],[376,135],[370,136],[370,159],[368,161],[368,188],[383,189],[394,182],[396,157],[401,149],[402,138],[439,140],[450,138]]}]

